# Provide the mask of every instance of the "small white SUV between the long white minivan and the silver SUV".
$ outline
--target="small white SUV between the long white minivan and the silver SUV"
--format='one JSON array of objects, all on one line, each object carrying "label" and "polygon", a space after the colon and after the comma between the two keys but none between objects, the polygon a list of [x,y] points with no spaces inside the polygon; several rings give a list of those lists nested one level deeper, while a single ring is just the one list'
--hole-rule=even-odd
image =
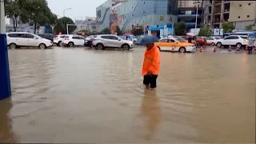
[{"label": "small white SUV between the long white minivan and the silver SUV", "polygon": [[64,46],[84,46],[86,41],[86,38],[80,36],[80,35],[75,35],[75,34],[70,34],[66,35],[66,37],[63,39],[62,44]]}]

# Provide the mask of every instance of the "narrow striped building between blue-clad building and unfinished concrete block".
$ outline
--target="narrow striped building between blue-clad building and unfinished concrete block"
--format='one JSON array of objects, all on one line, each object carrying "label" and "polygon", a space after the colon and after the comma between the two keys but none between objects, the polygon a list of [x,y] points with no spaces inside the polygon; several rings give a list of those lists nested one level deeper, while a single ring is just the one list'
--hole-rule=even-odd
[{"label": "narrow striped building between blue-clad building and unfinished concrete block", "polygon": [[[195,28],[197,19],[197,28],[202,24],[202,0],[182,1],[180,0],[178,7],[178,22],[186,22],[186,31]],[[197,6],[198,5],[198,6]],[[197,14],[198,9],[198,14]]]}]

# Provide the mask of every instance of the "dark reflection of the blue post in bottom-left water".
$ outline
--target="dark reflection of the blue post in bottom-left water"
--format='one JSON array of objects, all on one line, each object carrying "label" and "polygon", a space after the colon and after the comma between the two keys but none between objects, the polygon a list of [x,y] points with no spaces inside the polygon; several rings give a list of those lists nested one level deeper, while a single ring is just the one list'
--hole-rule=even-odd
[{"label": "dark reflection of the blue post in bottom-left water", "polygon": [[18,142],[16,134],[12,127],[12,119],[10,118],[10,110],[13,103],[10,98],[0,101],[0,142],[10,143]]}]

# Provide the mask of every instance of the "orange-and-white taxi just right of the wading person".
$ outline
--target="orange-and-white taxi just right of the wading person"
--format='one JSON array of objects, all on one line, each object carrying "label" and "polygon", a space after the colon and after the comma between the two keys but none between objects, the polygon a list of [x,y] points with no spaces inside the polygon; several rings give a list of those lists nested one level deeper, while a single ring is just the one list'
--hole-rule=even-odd
[{"label": "orange-and-white taxi just right of the wading person", "polygon": [[178,51],[180,53],[195,52],[196,46],[193,43],[186,42],[181,37],[161,38],[159,42],[154,42],[160,51]]}]

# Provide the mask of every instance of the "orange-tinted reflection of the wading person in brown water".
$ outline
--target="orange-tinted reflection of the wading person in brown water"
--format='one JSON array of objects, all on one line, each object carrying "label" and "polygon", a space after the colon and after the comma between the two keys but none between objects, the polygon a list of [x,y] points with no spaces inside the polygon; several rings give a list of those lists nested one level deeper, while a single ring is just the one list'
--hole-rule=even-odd
[{"label": "orange-tinted reflection of the wading person in brown water", "polygon": [[142,118],[146,125],[146,139],[153,138],[162,120],[162,107],[155,90],[144,90],[141,106]]}]

